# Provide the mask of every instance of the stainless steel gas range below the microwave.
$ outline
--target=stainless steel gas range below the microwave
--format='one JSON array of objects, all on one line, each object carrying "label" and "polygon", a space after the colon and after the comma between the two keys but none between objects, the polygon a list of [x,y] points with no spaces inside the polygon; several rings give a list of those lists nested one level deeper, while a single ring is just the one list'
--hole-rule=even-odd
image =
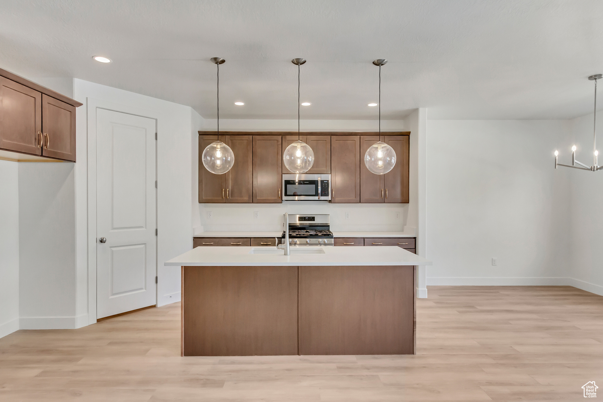
[{"label": "stainless steel gas range below the microwave", "polygon": [[[332,246],[329,215],[289,215],[289,244],[297,246]],[[285,242],[285,231],[280,236]]]}]

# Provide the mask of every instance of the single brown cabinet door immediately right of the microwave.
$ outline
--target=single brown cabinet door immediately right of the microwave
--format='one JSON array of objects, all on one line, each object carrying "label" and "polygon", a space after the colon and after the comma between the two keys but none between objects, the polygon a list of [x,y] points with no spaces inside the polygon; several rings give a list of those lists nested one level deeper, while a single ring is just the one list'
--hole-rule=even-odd
[{"label": "single brown cabinet door immediately right of the microwave", "polygon": [[360,136],[331,137],[331,202],[360,202]]}]

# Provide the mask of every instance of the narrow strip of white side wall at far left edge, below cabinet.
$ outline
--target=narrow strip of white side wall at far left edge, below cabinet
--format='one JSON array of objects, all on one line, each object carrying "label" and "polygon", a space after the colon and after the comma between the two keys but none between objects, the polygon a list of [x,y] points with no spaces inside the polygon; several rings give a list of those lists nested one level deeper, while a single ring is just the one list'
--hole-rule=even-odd
[{"label": "narrow strip of white side wall at far left edge, below cabinet", "polygon": [[19,169],[0,160],[0,338],[19,329]]}]

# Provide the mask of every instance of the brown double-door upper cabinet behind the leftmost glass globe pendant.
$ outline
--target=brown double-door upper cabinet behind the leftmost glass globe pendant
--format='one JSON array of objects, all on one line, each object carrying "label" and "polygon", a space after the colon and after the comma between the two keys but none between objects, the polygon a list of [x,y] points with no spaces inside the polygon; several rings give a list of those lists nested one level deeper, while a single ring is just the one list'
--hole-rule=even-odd
[{"label": "brown double-door upper cabinet behind the leftmost glass globe pendant", "polygon": [[[199,157],[215,135],[199,136]],[[253,201],[252,136],[220,136],[235,154],[235,164],[230,171],[218,175],[209,172],[199,162],[200,203],[251,203]]]}]

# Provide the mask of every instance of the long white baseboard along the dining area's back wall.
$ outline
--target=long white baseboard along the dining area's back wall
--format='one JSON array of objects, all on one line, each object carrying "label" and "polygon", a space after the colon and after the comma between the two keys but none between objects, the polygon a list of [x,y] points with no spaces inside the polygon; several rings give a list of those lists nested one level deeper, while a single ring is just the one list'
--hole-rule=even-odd
[{"label": "long white baseboard along the dining area's back wall", "polygon": [[563,277],[466,277],[427,278],[428,286],[573,286]]}]

